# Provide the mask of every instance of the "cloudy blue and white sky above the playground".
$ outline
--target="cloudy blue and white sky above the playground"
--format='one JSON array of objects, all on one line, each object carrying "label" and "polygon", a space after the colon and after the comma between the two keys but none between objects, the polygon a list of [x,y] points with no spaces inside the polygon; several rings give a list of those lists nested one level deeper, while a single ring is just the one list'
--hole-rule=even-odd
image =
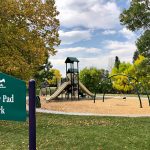
[{"label": "cloudy blue and white sky above the playground", "polygon": [[119,15],[130,0],[56,0],[60,39],[53,68],[65,75],[66,57],[77,57],[80,69],[109,69],[115,56],[132,62],[137,34],[120,25]]}]

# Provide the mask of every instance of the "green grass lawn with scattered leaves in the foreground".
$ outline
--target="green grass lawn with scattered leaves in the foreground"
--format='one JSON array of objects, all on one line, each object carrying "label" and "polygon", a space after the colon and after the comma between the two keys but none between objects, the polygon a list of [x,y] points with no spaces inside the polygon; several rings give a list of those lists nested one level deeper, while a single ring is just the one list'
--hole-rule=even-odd
[{"label": "green grass lawn with scattered leaves in the foreground", "polygon": [[[150,118],[37,114],[38,150],[149,150]],[[0,121],[0,150],[28,149],[28,121]]]}]

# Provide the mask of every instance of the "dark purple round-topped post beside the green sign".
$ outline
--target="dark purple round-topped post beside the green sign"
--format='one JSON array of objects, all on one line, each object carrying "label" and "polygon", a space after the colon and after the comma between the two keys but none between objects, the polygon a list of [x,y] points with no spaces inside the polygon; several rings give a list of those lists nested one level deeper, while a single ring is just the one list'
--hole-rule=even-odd
[{"label": "dark purple round-topped post beside the green sign", "polygon": [[35,80],[29,81],[29,150],[36,150]]}]

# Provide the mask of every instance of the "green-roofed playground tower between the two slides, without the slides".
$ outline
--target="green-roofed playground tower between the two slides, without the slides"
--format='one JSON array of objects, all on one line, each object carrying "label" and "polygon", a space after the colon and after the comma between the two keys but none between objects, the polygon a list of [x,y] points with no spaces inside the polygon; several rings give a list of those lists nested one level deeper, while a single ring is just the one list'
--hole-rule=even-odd
[{"label": "green-roofed playground tower between the two slides, without the slides", "polygon": [[71,94],[71,99],[78,95],[79,99],[79,60],[76,57],[67,57],[66,78],[71,81],[67,93]]}]

